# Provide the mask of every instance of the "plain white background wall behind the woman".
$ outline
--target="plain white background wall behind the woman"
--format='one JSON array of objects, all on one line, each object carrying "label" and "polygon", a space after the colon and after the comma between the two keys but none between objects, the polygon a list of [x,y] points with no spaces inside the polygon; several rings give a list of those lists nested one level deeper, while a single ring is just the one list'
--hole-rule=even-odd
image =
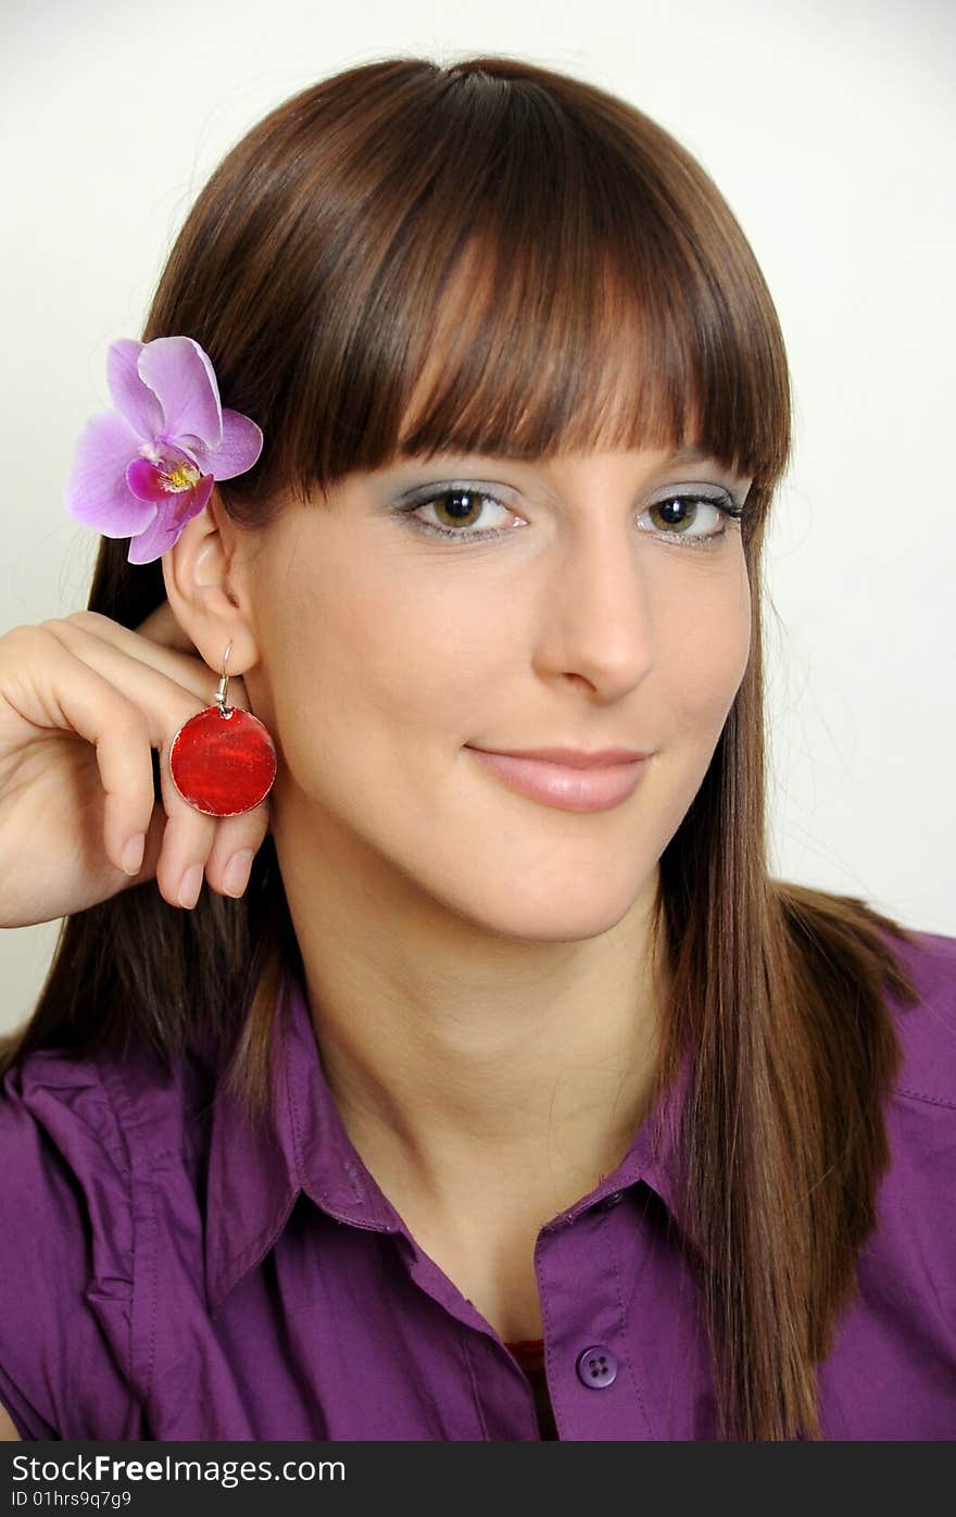
[{"label": "plain white background wall behind the woman", "polygon": [[[223,153],[358,62],[524,56],[674,132],[780,313],[772,872],[956,936],[951,0],[5,0],[3,23],[0,633],[86,604],[76,435]],[[32,1009],[58,925],[0,933],[0,1027]]]}]

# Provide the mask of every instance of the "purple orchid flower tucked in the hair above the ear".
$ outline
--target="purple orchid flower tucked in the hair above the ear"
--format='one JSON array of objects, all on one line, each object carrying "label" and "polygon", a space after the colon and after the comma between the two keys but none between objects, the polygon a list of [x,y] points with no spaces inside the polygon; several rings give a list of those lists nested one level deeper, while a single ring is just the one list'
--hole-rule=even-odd
[{"label": "purple orchid flower tucked in the hair above the ear", "polygon": [[217,479],[263,451],[247,416],[220,405],[215,372],[191,337],[121,338],[106,355],[115,411],[86,422],[67,481],[67,511],[105,537],[129,537],[147,564],[205,510]]}]

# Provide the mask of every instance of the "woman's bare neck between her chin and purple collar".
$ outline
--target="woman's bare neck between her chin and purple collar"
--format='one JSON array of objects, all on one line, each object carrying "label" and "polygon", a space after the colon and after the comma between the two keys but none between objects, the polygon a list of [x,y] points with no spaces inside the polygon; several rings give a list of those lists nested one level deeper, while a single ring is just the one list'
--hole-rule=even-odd
[{"label": "woman's bare neck between her chin and purple collar", "polygon": [[329,877],[326,856],[317,880],[303,857],[279,854],[323,1071],[399,1214],[404,1198],[449,1226],[505,1211],[527,1227],[587,1194],[627,1151],[657,1068],[656,875],[609,931],[528,942],[393,871],[364,877],[367,859]]}]

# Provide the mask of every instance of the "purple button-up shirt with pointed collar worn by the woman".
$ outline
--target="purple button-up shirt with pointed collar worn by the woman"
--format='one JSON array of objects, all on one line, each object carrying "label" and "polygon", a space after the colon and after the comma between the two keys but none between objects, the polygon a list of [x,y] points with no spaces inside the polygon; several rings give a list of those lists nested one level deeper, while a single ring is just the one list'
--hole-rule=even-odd
[{"label": "purple button-up shirt with pointed collar worn by the woman", "polygon": [[[956,938],[901,950],[906,1062],[827,1438],[956,1438]],[[649,1120],[540,1229],[546,1396],[416,1244],[331,1098],[297,977],[275,1126],[190,1060],[52,1050],[0,1095],[0,1402],[24,1438],[713,1440],[697,1291]],[[668,1094],[668,1121],[680,1101]],[[542,1387],[543,1390],[543,1387]],[[540,1415],[540,1421],[539,1421]]]}]

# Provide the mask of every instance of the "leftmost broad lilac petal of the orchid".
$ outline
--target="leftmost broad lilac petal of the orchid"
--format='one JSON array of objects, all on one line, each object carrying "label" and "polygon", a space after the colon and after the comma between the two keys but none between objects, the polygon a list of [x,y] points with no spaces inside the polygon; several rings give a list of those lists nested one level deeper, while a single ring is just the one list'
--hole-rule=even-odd
[{"label": "leftmost broad lilac petal of the orchid", "polygon": [[65,505],[85,526],[103,537],[141,532],[155,507],[138,501],[126,484],[126,469],[140,451],[140,437],[115,411],[94,416],[83,426],[67,479]]}]

